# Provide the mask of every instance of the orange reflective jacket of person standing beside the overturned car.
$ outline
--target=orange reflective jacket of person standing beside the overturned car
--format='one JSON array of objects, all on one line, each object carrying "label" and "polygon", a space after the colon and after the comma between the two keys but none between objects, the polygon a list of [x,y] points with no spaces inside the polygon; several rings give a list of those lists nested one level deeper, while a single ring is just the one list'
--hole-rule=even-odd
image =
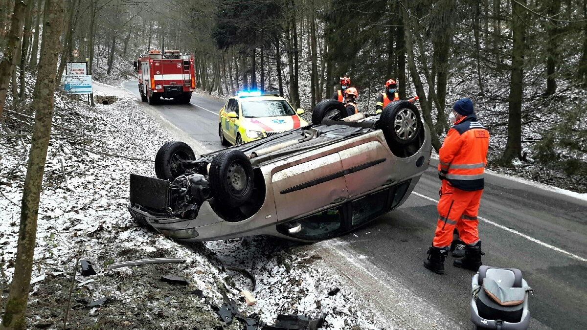
[{"label": "orange reflective jacket of person standing beside the overturned car", "polygon": [[438,151],[438,171],[441,179],[458,189],[481,190],[485,186],[483,173],[487,165],[489,132],[477,117],[467,116],[448,130]]}]

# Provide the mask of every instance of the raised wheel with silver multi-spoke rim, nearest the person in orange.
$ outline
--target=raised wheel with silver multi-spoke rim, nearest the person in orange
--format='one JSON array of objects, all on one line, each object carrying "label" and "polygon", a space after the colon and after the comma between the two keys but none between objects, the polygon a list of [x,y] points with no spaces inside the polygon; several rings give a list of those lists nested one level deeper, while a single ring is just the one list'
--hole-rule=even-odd
[{"label": "raised wheel with silver multi-spoke rim, nearest the person in orange", "polygon": [[418,139],[422,126],[418,108],[407,100],[390,102],[379,118],[388,144],[408,146]]}]

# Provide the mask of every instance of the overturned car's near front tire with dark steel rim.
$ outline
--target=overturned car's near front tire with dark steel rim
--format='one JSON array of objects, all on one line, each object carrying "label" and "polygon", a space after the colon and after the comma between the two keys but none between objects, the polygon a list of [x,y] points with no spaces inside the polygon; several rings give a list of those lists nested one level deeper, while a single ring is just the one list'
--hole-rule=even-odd
[{"label": "overturned car's near front tire with dark steel rim", "polygon": [[208,181],[214,199],[227,207],[239,207],[253,193],[253,167],[240,150],[224,150],[210,164]]}]

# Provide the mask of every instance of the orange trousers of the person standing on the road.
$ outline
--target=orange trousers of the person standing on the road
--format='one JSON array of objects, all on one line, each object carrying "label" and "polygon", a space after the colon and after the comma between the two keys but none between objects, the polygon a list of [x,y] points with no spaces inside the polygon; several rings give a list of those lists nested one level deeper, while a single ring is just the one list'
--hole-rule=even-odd
[{"label": "orange trousers of the person standing on the road", "polygon": [[440,200],[438,201],[438,223],[434,233],[434,247],[449,247],[453,241],[456,227],[458,235],[466,244],[477,244],[479,231],[477,211],[483,190],[465,191],[448,185],[442,181]]}]

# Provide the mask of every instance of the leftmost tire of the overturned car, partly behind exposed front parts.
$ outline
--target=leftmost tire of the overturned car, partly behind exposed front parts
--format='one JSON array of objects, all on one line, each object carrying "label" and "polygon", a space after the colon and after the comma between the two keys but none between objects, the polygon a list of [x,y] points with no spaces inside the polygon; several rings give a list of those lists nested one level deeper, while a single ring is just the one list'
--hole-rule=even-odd
[{"label": "leftmost tire of the overturned car, partly behind exposed front parts", "polygon": [[195,160],[194,150],[183,142],[167,142],[155,156],[155,174],[158,179],[173,181],[184,174],[178,166],[179,160]]}]

